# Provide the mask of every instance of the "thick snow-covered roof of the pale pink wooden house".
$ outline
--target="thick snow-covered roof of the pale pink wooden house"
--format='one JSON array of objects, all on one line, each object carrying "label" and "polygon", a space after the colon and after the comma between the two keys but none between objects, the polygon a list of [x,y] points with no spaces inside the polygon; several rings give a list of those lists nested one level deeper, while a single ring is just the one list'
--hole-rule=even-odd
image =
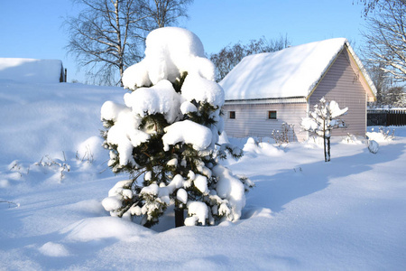
[{"label": "thick snow-covered roof of the pale pink wooden house", "polygon": [[345,38],[247,56],[226,75],[220,85],[225,90],[226,100],[308,98],[345,46],[375,93],[372,80]]}]

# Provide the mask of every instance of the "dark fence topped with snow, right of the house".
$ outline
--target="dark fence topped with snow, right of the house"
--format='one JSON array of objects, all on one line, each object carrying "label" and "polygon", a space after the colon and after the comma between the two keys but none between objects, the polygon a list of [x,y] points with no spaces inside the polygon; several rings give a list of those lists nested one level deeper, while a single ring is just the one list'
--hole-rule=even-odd
[{"label": "dark fence topped with snow, right of the house", "polygon": [[406,108],[374,108],[367,113],[368,126],[406,126]]}]

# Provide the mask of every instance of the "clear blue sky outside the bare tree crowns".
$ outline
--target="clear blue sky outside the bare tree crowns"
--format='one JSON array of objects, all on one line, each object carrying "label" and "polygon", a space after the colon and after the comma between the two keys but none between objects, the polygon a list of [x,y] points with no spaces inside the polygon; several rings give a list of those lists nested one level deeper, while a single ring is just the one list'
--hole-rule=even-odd
[{"label": "clear blue sky outside the bare tree crowns", "polygon": [[[208,53],[228,44],[287,35],[292,45],[346,37],[360,53],[363,6],[353,0],[195,0],[180,26],[196,33]],[[356,1],[355,1],[356,2]],[[0,57],[59,59],[68,80],[83,80],[67,55],[63,17],[77,14],[70,0],[0,0]]]}]

